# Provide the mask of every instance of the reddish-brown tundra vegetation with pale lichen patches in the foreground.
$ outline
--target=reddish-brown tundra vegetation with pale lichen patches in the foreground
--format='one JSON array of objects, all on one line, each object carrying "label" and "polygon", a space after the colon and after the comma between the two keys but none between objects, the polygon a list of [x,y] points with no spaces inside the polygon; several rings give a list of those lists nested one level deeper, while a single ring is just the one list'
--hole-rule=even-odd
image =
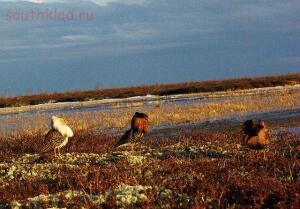
[{"label": "reddish-brown tundra vegetation with pale lichen patches in the foreground", "polygon": [[2,140],[0,208],[297,208],[299,136],[262,151],[242,138],[196,129],[112,148],[117,137],[80,132],[60,158],[39,154],[40,136]]}]

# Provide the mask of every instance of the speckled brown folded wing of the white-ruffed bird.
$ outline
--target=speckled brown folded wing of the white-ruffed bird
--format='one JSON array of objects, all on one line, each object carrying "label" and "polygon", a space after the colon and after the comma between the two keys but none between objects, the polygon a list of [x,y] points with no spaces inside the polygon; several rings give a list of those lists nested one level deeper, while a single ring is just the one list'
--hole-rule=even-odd
[{"label": "speckled brown folded wing of the white-ruffed bird", "polygon": [[57,130],[51,129],[45,136],[44,146],[42,152],[48,152],[59,146],[64,141],[64,136],[62,136]]}]

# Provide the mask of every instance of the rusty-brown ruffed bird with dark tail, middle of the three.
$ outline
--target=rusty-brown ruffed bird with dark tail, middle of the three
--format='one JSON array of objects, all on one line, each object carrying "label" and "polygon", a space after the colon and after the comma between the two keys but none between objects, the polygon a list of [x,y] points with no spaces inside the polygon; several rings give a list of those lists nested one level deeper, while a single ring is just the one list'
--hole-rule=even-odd
[{"label": "rusty-brown ruffed bird with dark tail, middle of the three", "polygon": [[130,140],[140,140],[148,132],[148,115],[136,112],[131,119],[131,128],[122,135],[115,147],[125,144]]}]

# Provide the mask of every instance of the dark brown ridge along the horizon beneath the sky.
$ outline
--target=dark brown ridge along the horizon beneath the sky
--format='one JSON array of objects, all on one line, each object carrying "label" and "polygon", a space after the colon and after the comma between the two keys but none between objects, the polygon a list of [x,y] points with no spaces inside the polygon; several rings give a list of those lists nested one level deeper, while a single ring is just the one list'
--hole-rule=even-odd
[{"label": "dark brown ridge along the horizon beneath the sky", "polygon": [[300,73],[293,73],[264,77],[246,77],[226,80],[131,86],[125,88],[96,89],[87,91],[77,90],[63,93],[40,93],[28,96],[0,97],[0,108],[37,105],[43,103],[128,98],[133,96],[146,96],[149,94],[165,96],[174,94],[244,90],[262,87],[295,85],[299,83]]}]

